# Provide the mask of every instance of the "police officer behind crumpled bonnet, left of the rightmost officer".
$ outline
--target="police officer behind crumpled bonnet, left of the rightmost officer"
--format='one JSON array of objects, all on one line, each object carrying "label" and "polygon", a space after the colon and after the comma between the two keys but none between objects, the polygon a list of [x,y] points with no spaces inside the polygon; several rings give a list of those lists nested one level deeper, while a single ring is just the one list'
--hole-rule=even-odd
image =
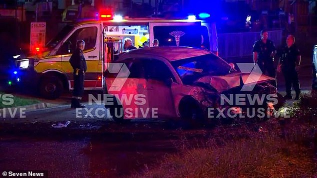
[{"label": "police officer behind crumpled bonnet, left of the rightmost officer", "polygon": [[275,81],[272,83],[276,87],[276,72],[274,68],[274,55],[276,49],[271,40],[268,39],[266,30],[260,32],[261,39],[254,42],[253,45],[253,61],[257,63],[263,74],[273,77]]}]

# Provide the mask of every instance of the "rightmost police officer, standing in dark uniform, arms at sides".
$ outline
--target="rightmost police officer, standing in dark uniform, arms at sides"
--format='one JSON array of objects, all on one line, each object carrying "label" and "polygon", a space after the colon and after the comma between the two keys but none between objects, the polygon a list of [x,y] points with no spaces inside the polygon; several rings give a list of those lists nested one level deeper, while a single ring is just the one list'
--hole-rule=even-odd
[{"label": "rightmost police officer, standing in dark uniform, arms at sides", "polygon": [[281,57],[278,62],[277,71],[282,71],[285,78],[286,95],[285,99],[292,99],[291,86],[293,86],[296,96],[299,99],[300,86],[298,80],[298,67],[300,65],[300,53],[294,44],[295,37],[288,35],[286,38],[286,46],[282,49]]}]

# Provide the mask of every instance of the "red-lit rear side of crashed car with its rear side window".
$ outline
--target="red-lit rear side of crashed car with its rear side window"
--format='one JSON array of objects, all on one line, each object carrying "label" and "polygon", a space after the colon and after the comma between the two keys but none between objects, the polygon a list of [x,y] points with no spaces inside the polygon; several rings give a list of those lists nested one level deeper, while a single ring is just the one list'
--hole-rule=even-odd
[{"label": "red-lit rear side of crashed car with its rear side window", "polygon": [[[105,75],[107,93],[114,95],[123,107],[124,119],[150,118],[144,65],[140,59],[109,64]],[[111,76],[111,77],[108,77]]]}]

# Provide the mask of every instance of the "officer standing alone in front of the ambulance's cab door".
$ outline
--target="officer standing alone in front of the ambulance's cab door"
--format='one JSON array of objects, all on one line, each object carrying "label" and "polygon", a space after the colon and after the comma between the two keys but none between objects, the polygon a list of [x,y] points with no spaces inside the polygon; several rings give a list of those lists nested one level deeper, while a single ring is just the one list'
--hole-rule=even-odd
[{"label": "officer standing alone in front of the ambulance's cab door", "polygon": [[71,98],[71,108],[84,108],[85,106],[80,104],[81,96],[83,94],[83,81],[84,81],[84,72],[87,70],[86,60],[82,54],[84,49],[84,41],[78,40],[76,42],[76,49],[72,53],[69,62],[73,68],[73,92]]}]

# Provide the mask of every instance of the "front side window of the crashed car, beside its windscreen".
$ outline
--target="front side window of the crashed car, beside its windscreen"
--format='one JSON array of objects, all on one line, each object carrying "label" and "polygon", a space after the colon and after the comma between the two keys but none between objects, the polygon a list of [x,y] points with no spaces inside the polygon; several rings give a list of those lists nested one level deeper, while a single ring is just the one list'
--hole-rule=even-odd
[{"label": "front side window of the crashed car, beside its windscreen", "polygon": [[171,78],[173,81],[176,81],[170,69],[163,61],[150,59],[144,62],[146,63],[145,74],[147,79],[165,82]]}]

